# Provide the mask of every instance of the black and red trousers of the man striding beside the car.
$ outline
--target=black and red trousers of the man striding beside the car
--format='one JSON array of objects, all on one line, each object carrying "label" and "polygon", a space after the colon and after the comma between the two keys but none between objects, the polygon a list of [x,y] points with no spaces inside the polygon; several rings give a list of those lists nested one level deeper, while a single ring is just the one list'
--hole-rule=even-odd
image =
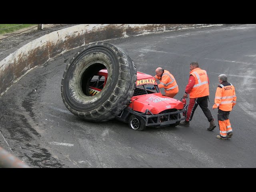
[{"label": "black and red trousers of the man striding beside the car", "polygon": [[204,115],[207,117],[208,122],[210,122],[213,118],[212,112],[208,109],[208,96],[189,99],[186,121],[192,120],[192,117],[198,105],[204,112]]}]

